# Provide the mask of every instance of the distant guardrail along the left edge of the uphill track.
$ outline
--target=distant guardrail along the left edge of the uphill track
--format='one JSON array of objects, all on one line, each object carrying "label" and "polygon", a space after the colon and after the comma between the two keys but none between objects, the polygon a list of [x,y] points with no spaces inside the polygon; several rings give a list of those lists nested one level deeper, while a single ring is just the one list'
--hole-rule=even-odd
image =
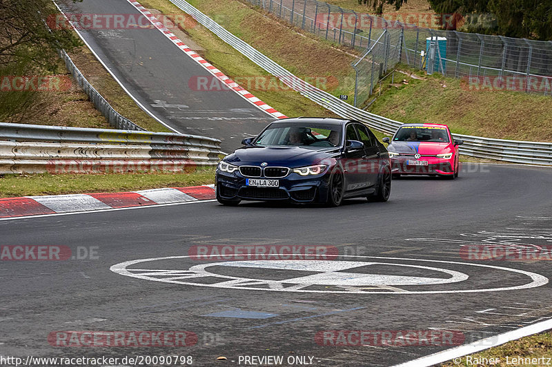
[{"label": "distant guardrail along the left edge of the uphill track", "polygon": [[65,61],[67,70],[71,73],[73,78],[75,78],[75,81],[77,81],[79,87],[81,87],[82,90],[88,95],[88,98],[90,98],[90,101],[94,104],[94,107],[96,107],[96,109],[102,114],[102,116],[108,120],[108,123],[112,127],[115,127],[115,129],[145,131],[145,129],[139,127],[128,118],[122,116],[121,114],[119,114],[119,112],[115,111],[113,107],[111,107],[108,101],[106,101],[106,98],[103,98],[103,96],[101,96],[101,94],[99,94],[99,92],[95,90],[94,87],[92,87],[92,84],[90,84],[86,80],[84,75],[75,65],[75,63],[73,63],[65,50],[60,50],[59,56],[61,56],[61,59]]}]

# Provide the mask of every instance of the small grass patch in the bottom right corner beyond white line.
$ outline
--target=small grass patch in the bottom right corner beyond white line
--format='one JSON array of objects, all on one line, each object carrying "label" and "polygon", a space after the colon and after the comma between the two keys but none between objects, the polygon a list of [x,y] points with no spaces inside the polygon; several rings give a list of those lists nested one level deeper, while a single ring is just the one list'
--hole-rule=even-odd
[{"label": "small grass patch in the bottom right corner beyond white line", "polygon": [[[508,359],[506,359],[508,357]],[[513,361],[513,358],[535,358],[535,361],[525,363],[524,361]],[[539,358],[544,358],[538,361]],[[552,358],[552,333],[541,333],[522,337],[521,339],[513,340],[501,346],[495,346],[480,353],[475,353],[466,357],[462,357],[460,364],[455,361],[447,361],[441,364],[441,367],[453,366],[494,366],[494,367],[510,367],[510,366],[550,366],[546,360]],[[486,360],[485,360],[486,359]],[[456,361],[458,361],[456,360]],[[490,362],[490,363],[489,363]]]}]

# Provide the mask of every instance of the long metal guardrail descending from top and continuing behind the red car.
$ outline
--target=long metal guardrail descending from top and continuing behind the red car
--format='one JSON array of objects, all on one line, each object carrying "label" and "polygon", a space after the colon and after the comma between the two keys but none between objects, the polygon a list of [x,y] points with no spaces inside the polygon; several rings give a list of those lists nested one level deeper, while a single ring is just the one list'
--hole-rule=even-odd
[{"label": "long metal guardrail descending from top and continuing behind the red car", "polygon": [[[170,1],[178,8],[194,17],[201,25],[204,25],[208,30],[219,36],[220,39],[244,54],[244,56],[248,57],[253,63],[259,65],[277,78],[280,78],[280,80],[286,83],[291,89],[296,90],[311,101],[329,109],[331,112],[344,118],[359,120],[386,134],[395,133],[403,124],[400,121],[391,120],[390,118],[371,114],[370,112],[353,107],[339,98],[306,83],[306,81],[297,83],[297,81],[300,80],[297,76],[293,75],[261,52],[255,50],[255,48],[248,43],[228,32],[228,30],[221,27],[221,25],[213,21],[213,19],[207,17],[204,13],[200,12],[186,1]],[[294,83],[290,83],[290,81],[295,81],[295,85]],[[297,90],[297,85],[301,86],[299,90]],[[454,138],[464,140],[465,143],[462,145],[460,152],[467,156],[491,158],[507,162],[552,165],[552,143],[503,140],[462,134],[453,134],[453,136]]]}]

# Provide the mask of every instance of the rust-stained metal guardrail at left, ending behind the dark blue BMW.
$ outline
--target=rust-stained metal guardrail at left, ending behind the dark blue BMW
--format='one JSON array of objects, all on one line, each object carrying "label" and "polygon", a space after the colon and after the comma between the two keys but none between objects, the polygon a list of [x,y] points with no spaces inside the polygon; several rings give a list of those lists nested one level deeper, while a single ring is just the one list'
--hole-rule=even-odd
[{"label": "rust-stained metal guardrail at left, ending behind the dark blue BMW", "polygon": [[0,174],[190,171],[219,154],[205,136],[0,123]]}]

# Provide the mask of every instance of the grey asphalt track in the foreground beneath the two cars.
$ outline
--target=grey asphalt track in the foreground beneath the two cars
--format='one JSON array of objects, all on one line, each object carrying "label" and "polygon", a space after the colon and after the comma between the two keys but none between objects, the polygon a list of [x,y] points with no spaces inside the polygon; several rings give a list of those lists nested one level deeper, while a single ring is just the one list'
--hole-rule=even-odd
[{"label": "grey asphalt track in the foreground beneath the two cars", "polygon": [[[75,259],[0,262],[0,355],[181,355],[196,366],[279,355],[313,357],[314,366],[392,366],[551,319],[550,262],[460,255],[477,244],[552,245],[550,187],[551,169],[465,164],[453,181],[394,180],[386,203],[208,201],[3,220],[2,245],[69,247]],[[226,244],[328,245],[340,256],[318,264],[189,257],[198,245]],[[211,275],[191,276],[201,271]],[[455,338],[317,344],[332,340],[317,333],[359,330],[446,330]],[[188,331],[197,343],[57,346],[56,331]]]}]

